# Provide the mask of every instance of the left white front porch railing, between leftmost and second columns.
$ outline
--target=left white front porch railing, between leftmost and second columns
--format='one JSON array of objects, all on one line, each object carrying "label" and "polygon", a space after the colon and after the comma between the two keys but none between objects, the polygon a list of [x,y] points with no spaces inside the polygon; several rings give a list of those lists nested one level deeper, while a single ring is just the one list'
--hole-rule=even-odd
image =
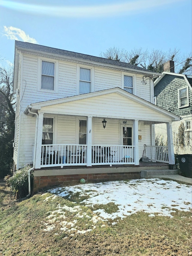
[{"label": "left white front porch railing, between leftmost and second columns", "polygon": [[86,148],[79,144],[42,145],[41,167],[86,165]]}]

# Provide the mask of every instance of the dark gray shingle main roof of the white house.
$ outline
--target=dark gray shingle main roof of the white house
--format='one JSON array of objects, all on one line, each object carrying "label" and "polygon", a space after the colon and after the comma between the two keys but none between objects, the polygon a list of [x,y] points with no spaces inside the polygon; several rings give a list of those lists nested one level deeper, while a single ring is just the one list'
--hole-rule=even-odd
[{"label": "dark gray shingle main roof of the white house", "polygon": [[21,42],[21,41],[15,41],[15,47],[16,48],[17,47],[24,48],[26,50],[28,49],[28,50],[41,51],[41,52],[45,52],[45,53],[58,54],[58,55],[65,56],[65,57],[82,59],[84,61],[92,61],[92,62],[98,62],[98,63],[102,63],[102,64],[106,64],[106,65],[113,65],[113,66],[116,66],[119,68],[129,68],[129,69],[133,69],[135,71],[142,71],[142,73],[150,72],[151,74],[154,73],[154,75],[157,74],[154,71],[147,70],[145,68],[140,68],[138,66],[131,65],[126,62],[120,62],[120,61],[105,59],[105,58],[101,58],[101,57],[91,56],[91,55],[87,55],[87,54],[75,53],[75,52],[70,52],[70,51],[66,51],[66,50],[60,50],[60,49],[56,49],[56,48],[52,48],[52,47],[39,45],[39,44],[31,44],[31,43],[26,43],[26,42]]}]

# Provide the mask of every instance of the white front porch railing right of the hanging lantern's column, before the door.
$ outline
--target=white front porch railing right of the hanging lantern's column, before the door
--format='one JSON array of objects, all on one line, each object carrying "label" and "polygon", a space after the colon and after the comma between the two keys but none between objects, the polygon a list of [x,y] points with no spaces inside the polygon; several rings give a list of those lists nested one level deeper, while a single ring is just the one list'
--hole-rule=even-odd
[{"label": "white front porch railing right of the hanging lantern's column, before the door", "polygon": [[92,165],[134,164],[134,146],[92,145]]}]

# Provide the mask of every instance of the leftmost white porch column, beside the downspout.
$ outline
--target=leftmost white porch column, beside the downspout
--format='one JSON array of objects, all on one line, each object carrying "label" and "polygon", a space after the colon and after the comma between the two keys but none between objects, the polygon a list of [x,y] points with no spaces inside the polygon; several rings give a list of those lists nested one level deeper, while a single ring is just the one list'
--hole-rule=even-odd
[{"label": "leftmost white porch column, beside the downspout", "polygon": [[[37,144],[36,144],[36,156],[35,156],[35,169],[41,168],[41,145],[42,145],[42,132],[43,132],[43,114],[38,113],[38,125],[37,125]],[[35,153],[35,152],[34,152]]]}]

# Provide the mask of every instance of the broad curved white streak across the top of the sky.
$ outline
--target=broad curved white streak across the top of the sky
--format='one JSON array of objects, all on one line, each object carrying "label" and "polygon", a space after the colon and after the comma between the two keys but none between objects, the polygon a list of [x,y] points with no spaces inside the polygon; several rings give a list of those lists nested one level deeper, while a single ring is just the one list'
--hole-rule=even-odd
[{"label": "broad curved white streak across the top of the sky", "polygon": [[81,5],[81,6],[56,6],[56,5],[34,5],[1,0],[0,6],[16,11],[31,14],[48,15],[55,17],[106,17],[130,15],[151,10],[160,6],[174,4],[182,0],[131,0],[122,1],[118,4],[103,5]]}]

